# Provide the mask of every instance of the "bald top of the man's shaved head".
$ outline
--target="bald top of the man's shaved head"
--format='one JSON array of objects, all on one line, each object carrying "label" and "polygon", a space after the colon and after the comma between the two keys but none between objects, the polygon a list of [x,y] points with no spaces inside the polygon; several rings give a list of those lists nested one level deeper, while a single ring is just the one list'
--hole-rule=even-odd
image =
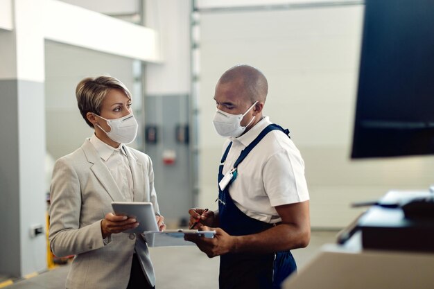
[{"label": "bald top of the man's shaved head", "polygon": [[217,85],[232,83],[243,91],[251,103],[265,103],[268,94],[267,78],[258,69],[250,65],[237,65],[228,69],[218,80]]}]

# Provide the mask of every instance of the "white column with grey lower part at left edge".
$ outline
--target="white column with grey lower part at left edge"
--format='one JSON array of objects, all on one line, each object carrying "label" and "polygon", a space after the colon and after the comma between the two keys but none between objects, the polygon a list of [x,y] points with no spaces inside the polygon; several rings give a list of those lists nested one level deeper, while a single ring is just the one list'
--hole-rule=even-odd
[{"label": "white column with grey lower part at left edge", "polygon": [[13,27],[0,30],[0,274],[46,268],[43,0],[11,2]]}]

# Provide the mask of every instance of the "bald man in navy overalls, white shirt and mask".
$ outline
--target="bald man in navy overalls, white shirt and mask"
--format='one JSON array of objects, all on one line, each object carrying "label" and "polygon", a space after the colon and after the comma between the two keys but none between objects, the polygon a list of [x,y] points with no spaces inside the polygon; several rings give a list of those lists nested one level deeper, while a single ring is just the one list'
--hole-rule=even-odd
[{"label": "bald man in navy overalls, white shirt and mask", "polygon": [[228,137],[218,173],[218,211],[190,209],[190,224],[214,238],[186,236],[207,256],[220,256],[220,289],[280,288],[296,265],[290,249],[310,240],[309,193],[300,152],[288,130],[262,115],[268,83],[238,65],[223,73],[214,127]]}]

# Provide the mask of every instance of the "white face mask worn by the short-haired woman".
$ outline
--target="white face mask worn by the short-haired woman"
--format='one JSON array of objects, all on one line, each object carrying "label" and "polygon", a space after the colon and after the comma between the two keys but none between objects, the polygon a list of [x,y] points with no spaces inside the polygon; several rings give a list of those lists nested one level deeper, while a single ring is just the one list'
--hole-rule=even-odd
[{"label": "white face mask worn by the short-haired woman", "polygon": [[[98,116],[98,114],[96,114]],[[103,116],[99,116],[101,119],[104,119]],[[120,119],[104,119],[107,121],[107,125],[110,126],[110,132],[106,132],[100,125],[98,128],[101,128],[107,137],[110,137],[112,141],[116,141],[116,143],[132,143],[137,136],[137,128],[138,124],[132,113],[127,116],[123,116]]]}]

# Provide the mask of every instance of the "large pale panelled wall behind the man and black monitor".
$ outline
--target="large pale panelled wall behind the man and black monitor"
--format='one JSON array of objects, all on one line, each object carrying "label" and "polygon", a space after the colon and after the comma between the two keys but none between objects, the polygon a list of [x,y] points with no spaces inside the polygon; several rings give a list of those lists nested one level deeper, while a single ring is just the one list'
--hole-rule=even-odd
[{"label": "large pale panelled wall behind the man and black monitor", "polygon": [[[313,227],[344,227],[390,189],[427,189],[432,157],[351,161],[363,6],[200,12],[200,204],[215,208],[223,139],[214,86],[235,64],[265,73],[264,112],[289,128],[306,163]],[[212,165],[214,164],[214,166]]]}]

